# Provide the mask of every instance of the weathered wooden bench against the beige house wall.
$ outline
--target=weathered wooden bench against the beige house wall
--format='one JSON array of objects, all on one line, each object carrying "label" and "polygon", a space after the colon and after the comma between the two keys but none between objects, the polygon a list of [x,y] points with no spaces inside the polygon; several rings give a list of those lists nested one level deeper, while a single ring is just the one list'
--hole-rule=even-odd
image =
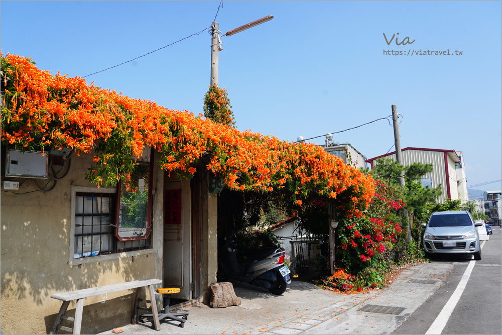
[{"label": "weathered wooden bench against the beige house wall", "polygon": [[[59,309],[59,313],[56,316],[56,321],[54,321],[54,325],[52,326],[52,330],[50,334],[55,334],[59,329],[63,329],[64,331],[70,331],[74,334],[80,334],[80,326],[82,324],[82,310],[84,307],[84,299],[88,297],[93,297],[96,295],[107,294],[112,292],[124,291],[124,290],[132,290],[136,289],[136,296],[134,299],[134,315],[132,324],[136,324],[138,321],[138,309],[146,309],[145,307],[139,307],[139,301],[147,301],[152,305],[152,312],[154,318],[155,330],[160,330],[160,322],[159,322],[159,313],[157,311],[157,304],[155,301],[155,290],[154,285],[162,283],[161,279],[141,279],[129,281],[126,283],[112,284],[100,287],[93,288],[85,288],[82,290],[76,290],[71,292],[64,293],[56,293],[51,295],[51,298],[59,299],[63,301],[61,308]],[[150,294],[150,301],[140,299],[141,289],[145,286],[148,286],[148,291]],[[68,317],[65,315],[66,309],[70,304],[70,301],[77,300],[77,307],[75,308],[75,317]],[[61,325],[61,319],[72,321],[73,328],[65,327]]]}]

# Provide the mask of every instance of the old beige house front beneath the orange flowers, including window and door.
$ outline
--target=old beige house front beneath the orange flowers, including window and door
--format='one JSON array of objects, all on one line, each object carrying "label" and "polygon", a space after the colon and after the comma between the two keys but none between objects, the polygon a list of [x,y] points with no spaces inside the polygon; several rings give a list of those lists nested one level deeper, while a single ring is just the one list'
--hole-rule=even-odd
[{"label": "old beige house front beneath the orange flowers, including window and door", "polygon": [[[217,267],[216,197],[207,172],[177,180],[158,167],[159,155],[146,153],[137,164],[136,205],[143,208],[134,213],[142,222],[128,222],[125,202],[134,193],[84,178],[93,154],[2,147],[3,331],[48,333],[61,304],[51,294],[137,279],[180,288],[172,296],[179,306],[202,300]],[[82,332],[129,324],[133,294],[127,293],[87,298]],[[23,314],[37,317],[20,319]]]}]

